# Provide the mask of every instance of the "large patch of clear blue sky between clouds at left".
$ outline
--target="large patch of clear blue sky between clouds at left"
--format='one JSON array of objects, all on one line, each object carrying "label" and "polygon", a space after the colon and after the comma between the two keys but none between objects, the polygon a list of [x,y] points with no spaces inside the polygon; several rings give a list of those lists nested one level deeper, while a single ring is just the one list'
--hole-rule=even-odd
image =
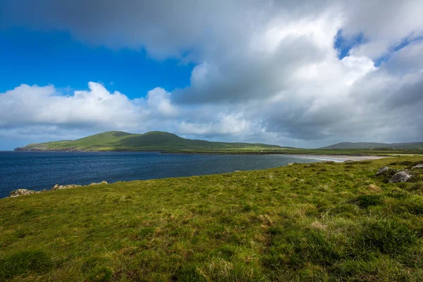
[{"label": "large patch of clear blue sky between clouds at left", "polygon": [[84,90],[94,81],[133,99],[157,86],[188,86],[193,68],[176,59],[151,59],[142,49],[95,47],[66,31],[22,27],[0,30],[0,54],[0,92],[21,84]]}]

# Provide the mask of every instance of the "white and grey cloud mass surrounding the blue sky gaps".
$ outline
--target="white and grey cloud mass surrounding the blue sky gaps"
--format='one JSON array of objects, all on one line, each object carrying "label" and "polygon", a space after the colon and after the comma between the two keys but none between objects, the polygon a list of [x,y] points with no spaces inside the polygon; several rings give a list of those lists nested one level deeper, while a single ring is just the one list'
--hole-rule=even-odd
[{"label": "white and grey cloud mass surrounding the blue sky gaps", "polygon": [[[423,139],[419,1],[76,2],[6,0],[5,21],[194,63],[190,85],[134,100],[93,82],[68,97],[21,85],[0,94],[2,130],[168,130],[309,147]],[[340,30],[365,39],[341,60]]]}]

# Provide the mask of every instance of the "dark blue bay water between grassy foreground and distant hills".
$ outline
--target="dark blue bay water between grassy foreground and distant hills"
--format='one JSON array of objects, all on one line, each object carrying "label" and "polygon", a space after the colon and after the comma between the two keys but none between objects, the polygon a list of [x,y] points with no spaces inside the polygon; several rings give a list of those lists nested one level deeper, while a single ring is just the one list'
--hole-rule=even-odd
[{"label": "dark blue bay water between grassy foreground and distant hills", "polygon": [[106,180],[141,180],[249,171],[310,163],[287,155],[204,155],[147,152],[0,152],[0,198],[19,189],[50,189],[54,184],[87,185]]}]

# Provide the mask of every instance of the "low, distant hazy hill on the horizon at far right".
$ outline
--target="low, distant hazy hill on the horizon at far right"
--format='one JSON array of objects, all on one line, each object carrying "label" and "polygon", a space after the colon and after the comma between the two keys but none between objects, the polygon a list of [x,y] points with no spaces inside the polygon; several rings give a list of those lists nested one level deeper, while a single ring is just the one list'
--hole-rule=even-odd
[{"label": "low, distant hazy hill on the horizon at far right", "polygon": [[370,143],[341,142],[319,149],[423,149],[423,142],[412,143]]}]

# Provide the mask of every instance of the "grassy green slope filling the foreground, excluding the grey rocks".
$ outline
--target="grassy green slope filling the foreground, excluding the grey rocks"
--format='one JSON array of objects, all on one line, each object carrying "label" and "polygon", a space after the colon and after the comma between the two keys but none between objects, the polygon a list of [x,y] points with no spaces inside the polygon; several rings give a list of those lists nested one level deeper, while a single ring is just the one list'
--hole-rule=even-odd
[{"label": "grassy green slope filling the foreground, excluding the grey rocks", "polygon": [[[422,281],[423,157],[0,200],[0,281]],[[419,176],[418,176],[419,175]]]}]

